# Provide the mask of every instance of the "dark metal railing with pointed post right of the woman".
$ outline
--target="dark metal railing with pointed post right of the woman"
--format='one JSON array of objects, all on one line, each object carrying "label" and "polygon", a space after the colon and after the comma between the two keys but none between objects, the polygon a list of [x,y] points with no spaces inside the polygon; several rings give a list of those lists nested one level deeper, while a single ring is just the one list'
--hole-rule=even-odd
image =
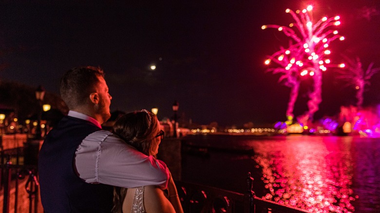
[{"label": "dark metal railing with pointed post right of the woman", "polygon": [[185,213],[306,213],[306,210],[261,199],[252,191],[253,178],[248,173],[245,194],[175,181]]}]

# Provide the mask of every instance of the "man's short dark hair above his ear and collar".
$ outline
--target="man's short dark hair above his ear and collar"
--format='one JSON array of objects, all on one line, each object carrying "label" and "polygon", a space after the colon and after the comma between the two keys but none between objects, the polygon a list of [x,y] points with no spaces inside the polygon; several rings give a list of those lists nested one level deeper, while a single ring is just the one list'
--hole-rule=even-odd
[{"label": "man's short dark hair above his ear and collar", "polygon": [[61,98],[73,109],[88,101],[89,95],[99,82],[98,77],[104,78],[104,71],[96,67],[76,67],[62,76],[60,81]]}]

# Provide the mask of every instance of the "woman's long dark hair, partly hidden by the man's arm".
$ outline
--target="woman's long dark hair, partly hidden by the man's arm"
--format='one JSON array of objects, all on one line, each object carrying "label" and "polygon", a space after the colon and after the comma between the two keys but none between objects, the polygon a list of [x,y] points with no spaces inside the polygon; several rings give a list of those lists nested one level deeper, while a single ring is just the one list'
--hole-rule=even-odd
[{"label": "woman's long dark hair, partly hidden by the man's arm", "polygon": [[[121,116],[114,124],[113,133],[132,145],[145,155],[155,157],[153,149],[156,148],[156,135],[159,132],[159,123],[156,116],[142,110]],[[157,139],[158,140],[158,139]],[[123,201],[127,195],[127,189],[114,187],[114,208],[113,213],[121,213]]]}]

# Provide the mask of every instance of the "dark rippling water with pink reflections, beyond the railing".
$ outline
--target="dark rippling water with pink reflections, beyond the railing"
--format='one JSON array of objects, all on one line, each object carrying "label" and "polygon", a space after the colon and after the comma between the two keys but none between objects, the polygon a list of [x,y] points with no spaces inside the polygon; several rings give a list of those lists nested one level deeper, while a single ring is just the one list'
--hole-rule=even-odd
[{"label": "dark rippling water with pink reflections, beyond the railing", "polygon": [[310,212],[380,212],[380,139],[197,135],[207,147],[182,155],[182,180],[256,195]]}]

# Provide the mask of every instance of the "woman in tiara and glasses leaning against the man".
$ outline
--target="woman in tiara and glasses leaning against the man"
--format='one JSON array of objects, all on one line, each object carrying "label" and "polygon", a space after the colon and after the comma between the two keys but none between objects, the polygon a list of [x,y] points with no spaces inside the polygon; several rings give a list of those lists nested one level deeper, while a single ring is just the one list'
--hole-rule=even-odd
[{"label": "woman in tiara and glasses leaning against the man", "polygon": [[[157,117],[143,109],[120,117],[113,128],[119,136],[138,151],[156,156],[164,138]],[[114,213],[183,213],[173,178],[170,175],[167,195],[157,186],[114,188]]]}]

